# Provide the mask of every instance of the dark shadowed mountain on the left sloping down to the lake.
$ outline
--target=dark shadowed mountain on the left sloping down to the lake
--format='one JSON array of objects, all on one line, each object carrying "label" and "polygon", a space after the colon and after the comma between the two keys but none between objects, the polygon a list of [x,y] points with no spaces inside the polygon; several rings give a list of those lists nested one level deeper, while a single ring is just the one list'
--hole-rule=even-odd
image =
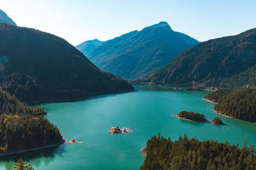
[{"label": "dark shadowed mountain on the left sloping down to the lake", "polygon": [[0,23],[0,39],[0,86],[20,101],[68,101],[134,90],[52,34]]}]

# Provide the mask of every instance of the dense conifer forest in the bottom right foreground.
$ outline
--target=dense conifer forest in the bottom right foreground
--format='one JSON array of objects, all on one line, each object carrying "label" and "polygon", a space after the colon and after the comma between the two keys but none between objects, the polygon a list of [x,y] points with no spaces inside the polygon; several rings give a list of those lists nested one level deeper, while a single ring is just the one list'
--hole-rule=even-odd
[{"label": "dense conifer forest in the bottom right foreground", "polygon": [[254,146],[242,148],[238,145],[217,141],[189,139],[186,134],[177,141],[159,136],[147,141],[147,156],[140,170],[157,169],[256,169]]}]

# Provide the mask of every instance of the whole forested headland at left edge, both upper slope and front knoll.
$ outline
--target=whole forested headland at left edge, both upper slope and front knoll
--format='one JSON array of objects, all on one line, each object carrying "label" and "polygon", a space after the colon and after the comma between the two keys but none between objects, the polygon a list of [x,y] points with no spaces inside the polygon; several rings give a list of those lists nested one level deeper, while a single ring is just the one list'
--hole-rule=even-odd
[{"label": "whole forested headland at left edge, both upper slope and front knoll", "polygon": [[0,153],[62,143],[58,128],[42,114],[44,108],[20,103],[0,89]]}]

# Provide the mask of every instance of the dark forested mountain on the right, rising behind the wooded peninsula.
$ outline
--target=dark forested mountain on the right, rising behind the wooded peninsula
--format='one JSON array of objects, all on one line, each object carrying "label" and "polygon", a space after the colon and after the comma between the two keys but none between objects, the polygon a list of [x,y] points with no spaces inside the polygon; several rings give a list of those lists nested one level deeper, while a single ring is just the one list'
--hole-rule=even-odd
[{"label": "dark forested mountain on the right, rising behind the wooded peninsula", "polygon": [[255,87],[256,29],[211,39],[133,83],[202,87]]}]

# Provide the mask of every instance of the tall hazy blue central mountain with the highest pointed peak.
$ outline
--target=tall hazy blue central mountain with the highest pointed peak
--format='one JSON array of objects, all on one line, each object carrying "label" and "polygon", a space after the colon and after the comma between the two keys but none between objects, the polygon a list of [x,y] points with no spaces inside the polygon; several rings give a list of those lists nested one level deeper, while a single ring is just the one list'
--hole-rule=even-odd
[{"label": "tall hazy blue central mountain with the highest pointed peak", "polygon": [[102,43],[88,54],[88,59],[104,71],[134,80],[165,66],[197,43],[173,31],[167,22],[160,22]]}]

